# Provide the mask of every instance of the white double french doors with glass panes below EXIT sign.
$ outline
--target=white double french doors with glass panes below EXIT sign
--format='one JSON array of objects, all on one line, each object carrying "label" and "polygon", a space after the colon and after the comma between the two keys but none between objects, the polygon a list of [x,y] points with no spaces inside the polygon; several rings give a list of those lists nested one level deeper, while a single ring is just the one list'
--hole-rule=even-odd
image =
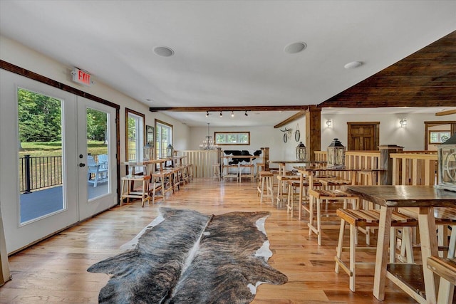
[{"label": "white double french doors with glass panes below EXIT sign", "polygon": [[[0,208],[10,253],[117,203],[115,109],[6,70],[0,78]],[[94,117],[102,139],[91,137]],[[88,158],[99,154],[95,176]]]}]

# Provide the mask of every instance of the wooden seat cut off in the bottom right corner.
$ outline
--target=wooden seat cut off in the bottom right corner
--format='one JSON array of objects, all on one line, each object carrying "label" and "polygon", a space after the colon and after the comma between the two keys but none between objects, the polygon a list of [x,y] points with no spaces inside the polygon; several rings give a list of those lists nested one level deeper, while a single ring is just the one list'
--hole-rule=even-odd
[{"label": "wooden seat cut off in the bottom right corner", "polygon": [[427,258],[427,268],[440,276],[437,304],[451,304],[456,285],[456,259],[431,256]]}]

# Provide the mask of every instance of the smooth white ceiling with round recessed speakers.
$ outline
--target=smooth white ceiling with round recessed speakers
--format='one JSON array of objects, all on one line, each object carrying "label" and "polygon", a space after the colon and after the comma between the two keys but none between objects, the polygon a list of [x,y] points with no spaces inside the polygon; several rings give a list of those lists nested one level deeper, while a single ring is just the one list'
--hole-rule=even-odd
[{"label": "smooth white ceiling with round recessed speakers", "polygon": [[[455,29],[456,1],[0,1],[2,35],[152,107],[318,105]],[[190,126],[294,113],[167,112]]]}]

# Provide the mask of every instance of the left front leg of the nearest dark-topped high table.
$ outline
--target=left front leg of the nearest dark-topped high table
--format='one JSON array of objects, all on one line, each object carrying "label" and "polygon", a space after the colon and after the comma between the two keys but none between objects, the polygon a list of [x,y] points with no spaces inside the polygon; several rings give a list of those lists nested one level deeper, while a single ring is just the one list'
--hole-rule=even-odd
[{"label": "left front leg of the nearest dark-topped high table", "polygon": [[375,256],[375,274],[373,279],[373,295],[380,301],[385,298],[386,267],[388,264],[392,213],[392,208],[380,206],[380,222],[378,224],[377,253]]}]

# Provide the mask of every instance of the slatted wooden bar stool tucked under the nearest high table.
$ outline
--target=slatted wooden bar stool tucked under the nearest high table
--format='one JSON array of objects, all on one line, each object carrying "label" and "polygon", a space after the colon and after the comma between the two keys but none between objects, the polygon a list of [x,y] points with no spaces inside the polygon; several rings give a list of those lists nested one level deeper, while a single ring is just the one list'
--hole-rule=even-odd
[{"label": "slatted wooden bar stool tucked under the nearest high table", "polygon": [[[356,265],[366,266],[368,263],[359,263],[356,262],[356,250],[359,251],[375,251],[376,247],[358,247],[356,242],[356,234],[359,227],[378,227],[380,223],[380,210],[353,210],[353,209],[338,209],[337,216],[341,218],[341,227],[339,230],[338,245],[336,249],[336,256],[334,257],[336,261],[336,273],[339,273],[339,267],[345,271],[348,276],[350,276],[350,290],[355,291],[355,276]],[[342,251],[346,251],[346,247],[343,247],[343,234],[345,232],[345,225],[350,224],[350,261],[349,265],[346,266],[346,263],[342,261],[341,255]],[[408,226],[417,226],[418,221],[416,219],[400,214],[398,211],[393,211],[391,216],[391,229],[394,227],[408,227]],[[408,246],[412,246],[410,242]],[[370,263],[375,264],[375,263]]]}]

